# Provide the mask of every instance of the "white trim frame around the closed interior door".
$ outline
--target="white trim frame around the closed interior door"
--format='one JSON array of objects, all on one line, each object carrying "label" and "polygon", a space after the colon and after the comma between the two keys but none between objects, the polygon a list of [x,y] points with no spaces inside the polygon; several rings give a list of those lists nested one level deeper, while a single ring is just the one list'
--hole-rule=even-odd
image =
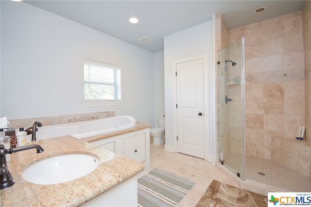
[{"label": "white trim frame around the closed interior door", "polygon": [[[209,113],[212,113],[213,111],[208,110],[209,109],[209,103],[208,103],[208,82],[207,82],[207,75],[208,75],[208,54],[199,54],[199,55],[194,55],[178,60],[173,61],[173,100],[174,100],[174,105],[173,105],[173,150],[174,152],[178,152],[178,147],[177,147],[177,109],[176,109],[176,104],[177,104],[177,80],[176,80],[176,65],[184,62],[189,62],[193,60],[198,60],[198,59],[203,59],[203,91],[204,91],[204,105],[203,105],[203,114],[204,114],[204,159],[208,161],[213,161],[213,156],[210,155],[209,153],[209,148],[213,146],[209,146],[211,144],[208,140],[208,134],[209,130],[212,130],[209,125],[209,119],[208,115]],[[210,104],[213,104],[212,102]]]}]

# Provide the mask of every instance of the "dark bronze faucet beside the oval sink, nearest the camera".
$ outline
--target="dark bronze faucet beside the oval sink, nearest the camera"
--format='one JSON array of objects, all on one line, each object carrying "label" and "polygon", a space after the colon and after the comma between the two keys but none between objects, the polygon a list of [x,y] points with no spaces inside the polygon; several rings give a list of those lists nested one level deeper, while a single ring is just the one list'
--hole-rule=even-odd
[{"label": "dark bronze faucet beside the oval sink, nearest the camera", "polygon": [[27,149],[37,149],[37,153],[41,153],[44,151],[44,149],[38,145],[38,144],[32,144],[28,146],[18,147],[18,148],[10,148],[5,149],[3,144],[0,144],[0,159],[1,159],[1,165],[0,165],[0,190],[9,188],[15,184],[13,181],[13,176],[9,172],[9,169],[6,164],[6,155],[12,154],[14,152],[19,152]]}]

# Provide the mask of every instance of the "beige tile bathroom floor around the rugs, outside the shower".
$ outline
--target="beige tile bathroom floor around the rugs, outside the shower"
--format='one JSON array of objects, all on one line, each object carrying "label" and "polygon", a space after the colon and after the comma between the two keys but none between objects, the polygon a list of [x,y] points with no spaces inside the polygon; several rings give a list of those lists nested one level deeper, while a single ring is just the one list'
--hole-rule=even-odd
[{"label": "beige tile bathroom floor around the rugs, outside the shower", "polygon": [[150,143],[151,169],[160,168],[196,182],[178,207],[194,207],[213,179],[239,187],[209,161],[164,150],[164,144]]}]

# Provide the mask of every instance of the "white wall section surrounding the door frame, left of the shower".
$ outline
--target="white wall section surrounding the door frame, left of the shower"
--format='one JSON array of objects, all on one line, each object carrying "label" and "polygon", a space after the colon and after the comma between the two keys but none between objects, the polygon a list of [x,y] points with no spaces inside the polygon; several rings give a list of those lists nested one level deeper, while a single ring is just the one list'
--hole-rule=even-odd
[{"label": "white wall section surrounding the door frame, left of the shower", "polygon": [[[165,144],[166,148],[173,146],[173,108],[176,106],[176,101],[173,100],[174,86],[173,79],[175,78],[175,69],[173,68],[173,61],[207,53],[208,56],[208,71],[207,81],[208,85],[212,86],[212,68],[213,68],[213,46],[212,46],[212,21],[208,21],[189,28],[187,30],[174,33],[164,38],[164,75],[165,75]],[[207,100],[212,102],[215,97],[211,96],[211,88],[207,90]],[[214,111],[205,111],[205,114],[215,113]],[[212,127],[213,120],[210,120],[209,131],[214,130]],[[209,136],[209,148],[213,150],[214,138]],[[209,152],[211,155],[213,152]]]}]

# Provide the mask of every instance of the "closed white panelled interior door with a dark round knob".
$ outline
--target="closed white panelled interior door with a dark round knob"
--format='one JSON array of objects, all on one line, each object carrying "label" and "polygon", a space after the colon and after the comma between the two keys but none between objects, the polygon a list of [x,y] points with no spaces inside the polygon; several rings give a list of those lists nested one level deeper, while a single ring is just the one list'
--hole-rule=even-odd
[{"label": "closed white panelled interior door with a dark round knob", "polygon": [[203,59],[176,64],[177,151],[204,159]]}]

